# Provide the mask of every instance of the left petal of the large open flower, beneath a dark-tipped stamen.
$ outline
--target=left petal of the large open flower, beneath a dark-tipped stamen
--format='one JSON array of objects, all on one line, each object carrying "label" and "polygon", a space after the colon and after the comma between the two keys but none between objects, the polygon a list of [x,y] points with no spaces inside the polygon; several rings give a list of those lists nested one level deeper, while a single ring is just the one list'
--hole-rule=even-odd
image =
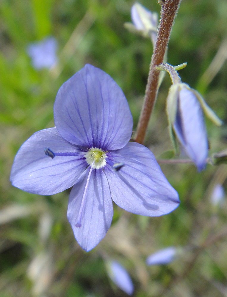
[{"label": "left petal of the large open flower, beneath a dark-tipped stamen", "polygon": [[79,156],[51,159],[45,154],[54,152],[81,152],[77,146],[61,137],[56,128],[33,134],[16,154],[10,181],[12,185],[29,193],[52,195],[72,187],[87,167]]}]

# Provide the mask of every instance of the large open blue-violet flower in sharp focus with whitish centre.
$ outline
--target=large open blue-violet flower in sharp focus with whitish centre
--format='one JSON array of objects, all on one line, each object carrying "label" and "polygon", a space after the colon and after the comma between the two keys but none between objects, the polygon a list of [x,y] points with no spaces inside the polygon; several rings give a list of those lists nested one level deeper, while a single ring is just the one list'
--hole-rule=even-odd
[{"label": "large open blue-violet flower in sharp focus with whitish centre", "polygon": [[179,205],[151,151],[129,142],[129,105],[105,72],[87,64],[65,82],[54,120],[56,127],[36,132],[21,146],[10,180],[40,195],[73,186],[67,216],[83,249],[93,249],[107,233],[112,200],[144,216],[161,216]]}]

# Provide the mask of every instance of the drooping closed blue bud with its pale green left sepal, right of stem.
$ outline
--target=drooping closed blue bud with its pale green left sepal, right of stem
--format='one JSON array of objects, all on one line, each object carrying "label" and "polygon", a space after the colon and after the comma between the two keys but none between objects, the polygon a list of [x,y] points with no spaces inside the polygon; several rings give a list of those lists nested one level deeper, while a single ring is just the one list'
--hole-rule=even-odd
[{"label": "drooping closed blue bud with its pale green left sepal, right of stem", "polygon": [[208,139],[198,100],[198,93],[186,83],[175,83],[169,89],[167,114],[183,149],[201,171],[208,157]]}]

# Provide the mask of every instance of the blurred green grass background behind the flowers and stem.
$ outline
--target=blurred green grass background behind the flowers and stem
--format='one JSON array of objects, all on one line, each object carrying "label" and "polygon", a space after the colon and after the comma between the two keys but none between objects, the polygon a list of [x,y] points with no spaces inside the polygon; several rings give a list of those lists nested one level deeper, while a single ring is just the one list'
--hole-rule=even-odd
[{"label": "blurred green grass background behind the flowers and stem", "polygon": [[[160,10],[155,0],[140,3]],[[57,90],[86,63],[103,69],[120,85],[136,127],[152,45],[123,27],[130,21],[133,4],[124,0],[0,2],[1,297],[126,296],[107,277],[104,263],[109,258],[127,268],[137,297],[226,296],[227,203],[218,209],[209,201],[215,184],[227,187],[226,165],[208,165],[202,173],[189,164],[161,165],[179,192],[179,208],[163,217],[146,218],[114,206],[112,227],[89,253],[76,243],[66,218],[69,190],[32,195],[9,181],[19,147],[37,130],[54,126]],[[225,122],[227,63],[209,85],[201,77],[226,39],[226,15],[226,0],[183,0],[168,49],[170,64],[188,63],[180,71],[182,81],[198,87]],[[26,48],[47,36],[58,41],[59,68],[37,71]],[[156,157],[172,149],[165,115],[169,86],[166,75],[146,138]],[[226,125],[217,128],[209,120],[206,124],[211,153],[226,148]],[[149,254],[170,245],[183,249],[176,261],[146,267]]]}]

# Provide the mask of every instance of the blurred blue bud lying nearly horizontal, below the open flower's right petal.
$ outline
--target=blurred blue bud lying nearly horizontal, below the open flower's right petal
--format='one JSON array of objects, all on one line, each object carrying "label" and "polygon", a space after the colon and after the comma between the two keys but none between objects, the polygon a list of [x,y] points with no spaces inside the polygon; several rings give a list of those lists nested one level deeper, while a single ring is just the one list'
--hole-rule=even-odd
[{"label": "blurred blue bud lying nearly horizontal, below the open flower's right petal", "polygon": [[151,254],[146,262],[147,265],[164,265],[172,262],[176,257],[177,249],[175,247],[167,247]]}]

